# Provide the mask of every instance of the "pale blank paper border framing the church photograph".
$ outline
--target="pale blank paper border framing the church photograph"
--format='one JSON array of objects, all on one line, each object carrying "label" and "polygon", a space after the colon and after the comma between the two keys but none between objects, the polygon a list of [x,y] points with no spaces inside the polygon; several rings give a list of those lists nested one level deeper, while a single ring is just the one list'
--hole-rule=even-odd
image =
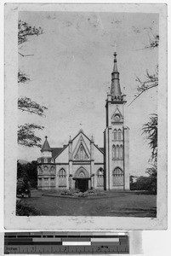
[{"label": "pale blank paper border framing the church photograph", "polygon": [[[88,11],[159,14],[157,218],[15,215],[17,168],[18,12]],[[17,230],[165,230],[167,229],[167,4],[6,3],[5,4],[5,229]]]}]

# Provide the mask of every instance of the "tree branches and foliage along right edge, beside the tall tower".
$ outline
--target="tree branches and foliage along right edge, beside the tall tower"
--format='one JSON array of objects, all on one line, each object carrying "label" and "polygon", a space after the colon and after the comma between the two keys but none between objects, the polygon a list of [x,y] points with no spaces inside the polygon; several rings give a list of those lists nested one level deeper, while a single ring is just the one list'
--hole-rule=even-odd
[{"label": "tree branches and foliage along right edge, beside the tall tower", "polygon": [[[152,30],[151,35],[152,37],[149,37],[149,44],[145,45],[143,49],[154,49],[159,46],[159,35],[153,34]],[[144,81],[140,80],[138,77],[136,77],[135,80],[139,82],[137,94],[129,105],[131,105],[145,91],[158,86],[158,65],[153,74],[150,74],[148,70],[146,70]],[[143,125],[142,131],[142,133],[145,134],[146,139],[149,141],[149,146],[151,148],[151,167],[146,169],[146,173],[149,177],[139,177],[136,184],[133,184],[132,186],[140,188],[140,183],[143,184],[146,182],[146,185],[143,185],[143,187],[157,194],[157,113],[152,113],[150,115],[150,119],[145,125]]]}]

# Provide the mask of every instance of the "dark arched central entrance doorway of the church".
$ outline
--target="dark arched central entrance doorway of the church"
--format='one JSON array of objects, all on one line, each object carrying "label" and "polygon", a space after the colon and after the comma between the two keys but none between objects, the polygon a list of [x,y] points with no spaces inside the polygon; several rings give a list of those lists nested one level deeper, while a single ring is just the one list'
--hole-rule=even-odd
[{"label": "dark arched central entrance doorway of the church", "polygon": [[90,189],[90,177],[88,175],[88,171],[85,168],[80,167],[75,173],[73,179],[75,180],[75,189],[79,189],[82,192]]}]

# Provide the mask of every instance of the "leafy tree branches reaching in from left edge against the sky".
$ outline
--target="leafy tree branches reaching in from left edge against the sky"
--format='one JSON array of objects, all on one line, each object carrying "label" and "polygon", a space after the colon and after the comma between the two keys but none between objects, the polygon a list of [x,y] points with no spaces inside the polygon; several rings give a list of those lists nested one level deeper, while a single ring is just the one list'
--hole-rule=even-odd
[{"label": "leafy tree branches reaching in from left edge against the sky", "polygon": [[[24,44],[29,36],[40,35],[43,33],[41,27],[36,28],[29,26],[26,22],[19,20],[18,23],[18,44]],[[22,57],[30,56],[23,55],[19,51],[19,55]],[[30,81],[30,78],[26,75],[26,73],[19,70],[18,72],[18,84],[25,84]],[[39,116],[44,115],[44,110],[48,109],[44,106],[41,106],[37,102],[31,101],[28,97],[20,97],[18,99],[18,109],[23,112],[34,113]],[[43,130],[43,126],[36,124],[25,124],[18,126],[18,143],[22,146],[26,147],[41,147],[41,138],[35,135],[36,130]]]}]

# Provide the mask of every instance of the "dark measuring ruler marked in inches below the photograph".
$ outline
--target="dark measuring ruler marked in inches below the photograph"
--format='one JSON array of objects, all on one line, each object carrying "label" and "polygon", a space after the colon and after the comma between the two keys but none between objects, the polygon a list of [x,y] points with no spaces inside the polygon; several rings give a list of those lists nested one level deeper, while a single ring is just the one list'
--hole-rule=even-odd
[{"label": "dark measuring ruler marked in inches below the photograph", "polygon": [[6,232],[4,254],[129,253],[128,233]]}]

